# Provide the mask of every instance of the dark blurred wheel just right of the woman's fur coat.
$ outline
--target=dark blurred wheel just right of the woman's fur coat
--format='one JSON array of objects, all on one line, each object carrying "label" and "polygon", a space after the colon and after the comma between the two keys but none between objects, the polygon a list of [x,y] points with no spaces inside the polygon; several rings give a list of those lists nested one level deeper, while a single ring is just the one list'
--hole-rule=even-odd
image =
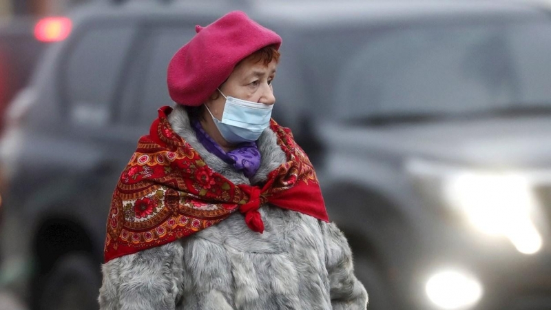
[{"label": "dark blurred wheel just right of the woman's fur coat", "polygon": [[366,288],[369,303],[368,310],[397,310],[396,294],[393,293],[388,281],[382,276],[382,270],[375,262],[367,258],[355,259],[355,275]]}]

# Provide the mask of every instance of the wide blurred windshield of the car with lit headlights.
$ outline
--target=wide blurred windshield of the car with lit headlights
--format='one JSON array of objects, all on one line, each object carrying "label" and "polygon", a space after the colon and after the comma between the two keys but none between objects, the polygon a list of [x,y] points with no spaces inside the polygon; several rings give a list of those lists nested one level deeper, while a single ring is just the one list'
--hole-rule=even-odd
[{"label": "wide blurred windshield of the car with lit headlights", "polygon": [[547,20],[357,29],[309,41],[306,76],[328,85],[313,94],[326,107],[318,113],[341,120],[551,107]]}]

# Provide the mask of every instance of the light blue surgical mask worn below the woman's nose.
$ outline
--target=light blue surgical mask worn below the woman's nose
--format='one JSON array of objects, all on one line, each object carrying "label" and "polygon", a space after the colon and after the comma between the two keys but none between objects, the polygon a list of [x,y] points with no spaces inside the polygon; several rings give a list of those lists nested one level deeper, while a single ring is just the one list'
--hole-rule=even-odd
[{"label": "light blue surgical mask worn below the woman's nose", "polygon": [[218,131],[222,134],[222,138],[229,143],[257,141],[260,134],[270,125],[273,105],[245,101],[225,96],[225,94],[222,94],[222,96],[226,99],[226,105],[220,121],[212,115],[209,107],[205,105]]}]

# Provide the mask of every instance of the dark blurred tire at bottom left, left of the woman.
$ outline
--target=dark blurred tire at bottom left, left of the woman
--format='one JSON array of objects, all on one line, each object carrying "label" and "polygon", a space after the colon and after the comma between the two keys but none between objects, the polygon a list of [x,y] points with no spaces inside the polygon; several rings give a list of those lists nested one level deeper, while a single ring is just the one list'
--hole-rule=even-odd
[{"label": "dark blurred tire at bottom left, left of the woman", "polygon": [[100,267],[85,254],[59,258],[40,281],[37,310],[97,310],[101,286]]}]

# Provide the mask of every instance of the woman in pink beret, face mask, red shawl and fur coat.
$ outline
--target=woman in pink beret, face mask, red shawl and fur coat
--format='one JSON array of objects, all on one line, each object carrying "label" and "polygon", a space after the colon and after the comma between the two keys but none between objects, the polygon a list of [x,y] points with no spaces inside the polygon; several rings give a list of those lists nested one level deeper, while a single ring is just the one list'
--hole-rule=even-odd
[{"label": "woman in pink beret, face mask, red shawl and fur coat", "polygon": [[178,105],[115,189],[101,309],[366,309],[311,163],[270,119],[281,38],[242,12],[196,32],[169,63]]}]

